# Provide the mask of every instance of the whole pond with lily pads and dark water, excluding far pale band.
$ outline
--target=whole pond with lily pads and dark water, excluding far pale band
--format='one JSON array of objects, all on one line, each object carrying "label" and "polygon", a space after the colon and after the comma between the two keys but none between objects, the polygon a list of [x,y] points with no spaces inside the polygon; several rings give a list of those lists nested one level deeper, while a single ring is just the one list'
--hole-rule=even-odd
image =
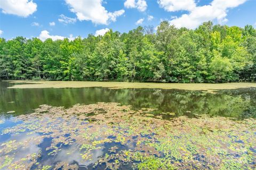
[{"label": "whole pond with lily pads and dark water, excluding far pale band", "polygon": [[8,88],[23,83],[0,82],[0,169],[256,168],[254,84]]}]

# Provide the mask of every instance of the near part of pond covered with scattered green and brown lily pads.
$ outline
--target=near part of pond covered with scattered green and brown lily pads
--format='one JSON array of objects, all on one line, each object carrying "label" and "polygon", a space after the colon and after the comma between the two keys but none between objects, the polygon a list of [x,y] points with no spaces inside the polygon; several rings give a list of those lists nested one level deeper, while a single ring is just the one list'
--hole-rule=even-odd
[{"label": "near part of pond covered with scattered green and brown lily pads", "polygon": [[[256,121],[164,120],[117,103],[42,105],[0,123],[0,169],[255,169]],[[4,128],[5,124],[13,124]]]}]

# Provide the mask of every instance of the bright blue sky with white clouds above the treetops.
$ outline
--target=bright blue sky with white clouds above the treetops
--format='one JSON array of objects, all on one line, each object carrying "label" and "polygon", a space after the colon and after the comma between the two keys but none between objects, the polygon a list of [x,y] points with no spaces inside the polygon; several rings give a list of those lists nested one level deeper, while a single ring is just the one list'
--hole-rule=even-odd
[{"label": "bright blue sky with white clouds above the treetops", "polygon": [[157,27],[162,20],[191,29],[208,20],[256,27],[255,0],[1,0],[0,8],[0,36],[6,39],[72,39],[102,35],[108,29]]}]

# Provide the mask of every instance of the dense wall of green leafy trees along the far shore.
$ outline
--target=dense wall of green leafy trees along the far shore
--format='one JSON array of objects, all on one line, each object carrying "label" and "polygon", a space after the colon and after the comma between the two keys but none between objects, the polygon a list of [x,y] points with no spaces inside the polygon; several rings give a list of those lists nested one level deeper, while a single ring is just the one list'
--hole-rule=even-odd
[{"label": "dense wall of green leafy trees along the far shore", "polygon": [[0,38],[0,79],[74,81],[256,81],[256,29],[175,28],[163,21],[128,33],[53,41]]}]

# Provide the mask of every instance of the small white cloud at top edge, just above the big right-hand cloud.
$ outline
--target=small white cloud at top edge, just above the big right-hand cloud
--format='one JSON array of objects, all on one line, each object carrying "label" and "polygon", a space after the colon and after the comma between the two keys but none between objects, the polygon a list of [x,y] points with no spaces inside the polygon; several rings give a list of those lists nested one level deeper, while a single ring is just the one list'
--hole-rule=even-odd
[{"label": "small white cloud at top edge, just above the big right-hand cloud", "polygon": [[165,11],[169,12],[180,10],[191,11],[196,7],[194,0],[158,0],[157,3]]}]

